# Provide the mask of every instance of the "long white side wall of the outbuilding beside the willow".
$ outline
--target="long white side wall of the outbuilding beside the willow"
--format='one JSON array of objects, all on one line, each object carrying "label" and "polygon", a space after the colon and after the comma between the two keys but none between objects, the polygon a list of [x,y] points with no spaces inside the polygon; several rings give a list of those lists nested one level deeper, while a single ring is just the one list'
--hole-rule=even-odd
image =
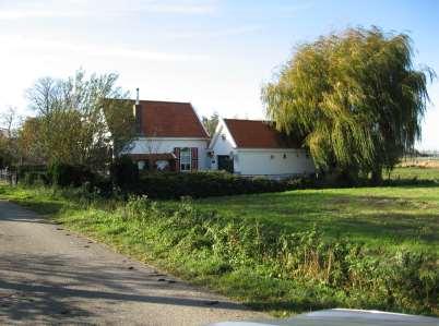
[{"label": "long white side wall of the outbuilding beside the willow", "polygon": [[235,172],[242,176],[287,177],[316,171],[305,149],[238,149],[235,160]]}]

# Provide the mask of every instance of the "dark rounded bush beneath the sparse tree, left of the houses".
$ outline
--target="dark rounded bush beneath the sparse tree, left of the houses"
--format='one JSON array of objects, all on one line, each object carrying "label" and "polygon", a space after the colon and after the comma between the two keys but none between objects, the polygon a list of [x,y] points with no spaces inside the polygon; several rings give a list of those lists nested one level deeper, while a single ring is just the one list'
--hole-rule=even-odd
[{"label": "dark rounded bush beneath the sparse tree, left of the houses", "polygon": [[84,166],[73,166],[56,162],[48,169],[48,176],[54,185],[81,186],[85,182],[95,181],[95,174]]}]

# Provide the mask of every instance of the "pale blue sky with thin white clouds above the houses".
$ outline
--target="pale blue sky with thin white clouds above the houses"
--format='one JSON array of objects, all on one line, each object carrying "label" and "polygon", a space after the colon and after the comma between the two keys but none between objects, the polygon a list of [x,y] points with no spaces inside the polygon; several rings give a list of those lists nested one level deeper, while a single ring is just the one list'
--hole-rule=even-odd
[{"label": "pale blue sky with thin white clouds above the houses", "polygon": [[[439,75],[437,0],[0,0],[0,112],[33,114],[26,88],[82,68],[142,99],[261,119],[261,86],[297,44],[371,25],[407,33],[416,67]],[[439,149],[439,80],[428,89],[418,147]]]}]

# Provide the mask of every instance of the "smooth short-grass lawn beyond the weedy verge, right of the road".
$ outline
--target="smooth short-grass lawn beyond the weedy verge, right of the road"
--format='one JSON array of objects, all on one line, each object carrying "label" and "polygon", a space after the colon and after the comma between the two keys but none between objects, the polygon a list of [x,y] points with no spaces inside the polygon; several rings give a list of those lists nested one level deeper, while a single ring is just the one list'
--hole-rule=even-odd
[{"label": "smooth short-grass lawn beyond the weedy verge, right of the road", "polygon": [[195,206],[288,232],[316,225],[328,238],[439,252],[439,188],[304,190],[200,200]]}]

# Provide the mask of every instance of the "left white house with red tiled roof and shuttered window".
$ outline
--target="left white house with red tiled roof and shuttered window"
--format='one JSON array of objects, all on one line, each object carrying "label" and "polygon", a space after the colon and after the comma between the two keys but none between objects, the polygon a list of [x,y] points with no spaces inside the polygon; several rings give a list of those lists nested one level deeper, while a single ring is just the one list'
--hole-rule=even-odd
[{"label": "left white house with red tiled roof and shuttered window", "polygon": [[133,100],[137,138],[128,154],[143,170],[207,168],[209,135],[189,102]]}]

